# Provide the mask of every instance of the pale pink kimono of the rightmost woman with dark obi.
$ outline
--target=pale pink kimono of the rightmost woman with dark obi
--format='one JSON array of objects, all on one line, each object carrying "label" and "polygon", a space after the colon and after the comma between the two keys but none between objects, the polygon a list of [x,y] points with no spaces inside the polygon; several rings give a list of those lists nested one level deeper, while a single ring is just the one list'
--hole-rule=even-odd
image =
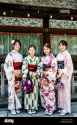
[{"label": "pale pink kimono of the rightmost woman with dark obi", "polygon": [[67,50],[57,55],[57,62],[64,61],[64,68],[61,68],[61,83],[64,87],[58,87],[58,107],[66,113],[71,113],[71,78],[73,63]]}]

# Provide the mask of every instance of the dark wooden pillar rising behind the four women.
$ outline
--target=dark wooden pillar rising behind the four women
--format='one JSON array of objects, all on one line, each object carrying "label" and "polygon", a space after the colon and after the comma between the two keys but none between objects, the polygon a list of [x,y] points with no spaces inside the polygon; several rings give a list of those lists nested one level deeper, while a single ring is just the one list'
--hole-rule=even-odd
[{"label": "dark wooden pillar rising behind the four women", "polygon": [[49,16],[43,17],[43,44],[50,43],[50,33],[49,33]]}]

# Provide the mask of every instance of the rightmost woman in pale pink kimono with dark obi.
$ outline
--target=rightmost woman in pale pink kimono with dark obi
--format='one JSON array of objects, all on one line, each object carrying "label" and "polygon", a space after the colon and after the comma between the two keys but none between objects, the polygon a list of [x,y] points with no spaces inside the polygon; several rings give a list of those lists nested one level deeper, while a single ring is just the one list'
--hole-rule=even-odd
[{"label": "rightmost woman in pale pink kimono with dark obi", "polygon": [[67,46],[67,42],[61,40],[59,43],[60,53],[57,55],[57,62],[61,63],[60,66],[58,66],[57,76],[60,78],[60,83],[58,83],[58,107],[61,109],[61,115],[71,113],[71,79],[73,63],[71,55],[67,51]]}]

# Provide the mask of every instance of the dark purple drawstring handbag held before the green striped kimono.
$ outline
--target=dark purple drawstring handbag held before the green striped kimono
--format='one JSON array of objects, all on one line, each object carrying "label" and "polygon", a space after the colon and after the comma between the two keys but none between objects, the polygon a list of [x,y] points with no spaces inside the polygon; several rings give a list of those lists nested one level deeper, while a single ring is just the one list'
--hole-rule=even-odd
[{"label": "dark purple drawstring handbag held before the green striped kimono", "polygon": [[23,81],[23,90],[26,94],[30,94],[33,92],[33,89],[34,89],[34,85],[30,77],[30,74],[28,72],[26,80]]}]

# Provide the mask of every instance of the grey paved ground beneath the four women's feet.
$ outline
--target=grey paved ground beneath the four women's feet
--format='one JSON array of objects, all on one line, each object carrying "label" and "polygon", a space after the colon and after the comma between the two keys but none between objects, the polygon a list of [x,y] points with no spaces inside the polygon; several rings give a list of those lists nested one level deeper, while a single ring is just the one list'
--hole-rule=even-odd
[{"label": "grey paved ground beneath the four women's feet", "polygon": [[[0,108],[0,117],[63,117],[57,113],[54,113],[52,116],[45,115],[43,111],[39,111],[36,114],[29,115],[26,112],[22,112],[20,114],[11,115],[7,108]],[[64,117],[77,117],[77,102],[72,103],[72,114]]]}]

